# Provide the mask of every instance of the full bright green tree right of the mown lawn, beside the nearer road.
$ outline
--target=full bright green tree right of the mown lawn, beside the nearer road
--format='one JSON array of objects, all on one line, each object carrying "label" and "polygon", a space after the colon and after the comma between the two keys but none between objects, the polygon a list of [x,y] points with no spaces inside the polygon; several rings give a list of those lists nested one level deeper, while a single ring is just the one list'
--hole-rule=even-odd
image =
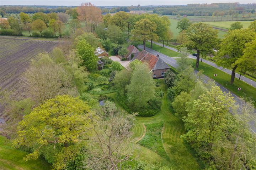
[{"label": "full bright green tree right of the mown lawn, beside the nearer road", "polygon": [[187,117],[183,119],[187,133],[182,135],[204,158],[209,158],[214,143],[221,141],[232,119],[230,110],[235,111],[235,101],[230,93],[225,94],[219,86],[213,86],[198,100],[187,107]]}]

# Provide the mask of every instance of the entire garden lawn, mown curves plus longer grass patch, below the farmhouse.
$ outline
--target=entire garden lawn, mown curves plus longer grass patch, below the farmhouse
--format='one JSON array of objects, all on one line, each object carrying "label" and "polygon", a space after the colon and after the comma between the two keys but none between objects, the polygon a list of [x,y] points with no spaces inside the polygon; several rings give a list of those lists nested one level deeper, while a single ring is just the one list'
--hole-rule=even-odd
[{"label": "entire garden lawn, mown curves plus longer grass patch, below the farmhouse", "polygon": [[[169,109],[166,96],[167,87],[163,80],[160,81],[160,86],[156,89],[161,89],[165,94],[162,98],[161,110],[153,117],[136,118],[133,132],[138,148],[134,151],[134,157],[151,164],[161,163],[174,170],[203,169],[203,165],[197,160],[193,149],[180,138],[185,133],[183,123]],[[108,94],[107,97],[122,109],[115,93]]]}]

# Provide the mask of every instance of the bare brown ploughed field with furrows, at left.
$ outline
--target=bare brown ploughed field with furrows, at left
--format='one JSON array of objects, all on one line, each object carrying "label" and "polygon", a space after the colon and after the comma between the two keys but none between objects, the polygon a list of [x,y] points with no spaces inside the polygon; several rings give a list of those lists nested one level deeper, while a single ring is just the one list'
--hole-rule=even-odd
[{"label": "bare brown ploughed field with furrows, at left", "polygon": [[58,41],[0,36],[0,89],[13,88],[39,52],[49,52]]}]

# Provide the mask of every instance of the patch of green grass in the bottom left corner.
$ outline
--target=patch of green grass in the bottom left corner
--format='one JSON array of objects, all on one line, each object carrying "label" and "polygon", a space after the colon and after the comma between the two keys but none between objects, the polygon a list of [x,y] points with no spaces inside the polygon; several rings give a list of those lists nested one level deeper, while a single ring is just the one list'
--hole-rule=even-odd
[{"label": "patch of green grass in the bottom left corner", "polygon": [[1,170],[50,170],[50,164],[44,159],[23,161],[28,153],[11,147],[4,136],[0,136],[0,169]]}]

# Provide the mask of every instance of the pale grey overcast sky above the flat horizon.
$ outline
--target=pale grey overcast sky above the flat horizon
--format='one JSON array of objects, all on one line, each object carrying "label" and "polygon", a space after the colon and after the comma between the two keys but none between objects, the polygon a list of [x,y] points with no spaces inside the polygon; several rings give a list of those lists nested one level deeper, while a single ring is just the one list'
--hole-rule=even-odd
[{"label": "pale grey overcast sky above the flat horizon", "polygon": [[[241,4],[255,3],[256,0],[89,0],[97,6],[112,5],[186,5],[211,4],[218,2],[239,2]],[[88,0],[0,0],[0,5],[74,5],[77,6]]]}]

